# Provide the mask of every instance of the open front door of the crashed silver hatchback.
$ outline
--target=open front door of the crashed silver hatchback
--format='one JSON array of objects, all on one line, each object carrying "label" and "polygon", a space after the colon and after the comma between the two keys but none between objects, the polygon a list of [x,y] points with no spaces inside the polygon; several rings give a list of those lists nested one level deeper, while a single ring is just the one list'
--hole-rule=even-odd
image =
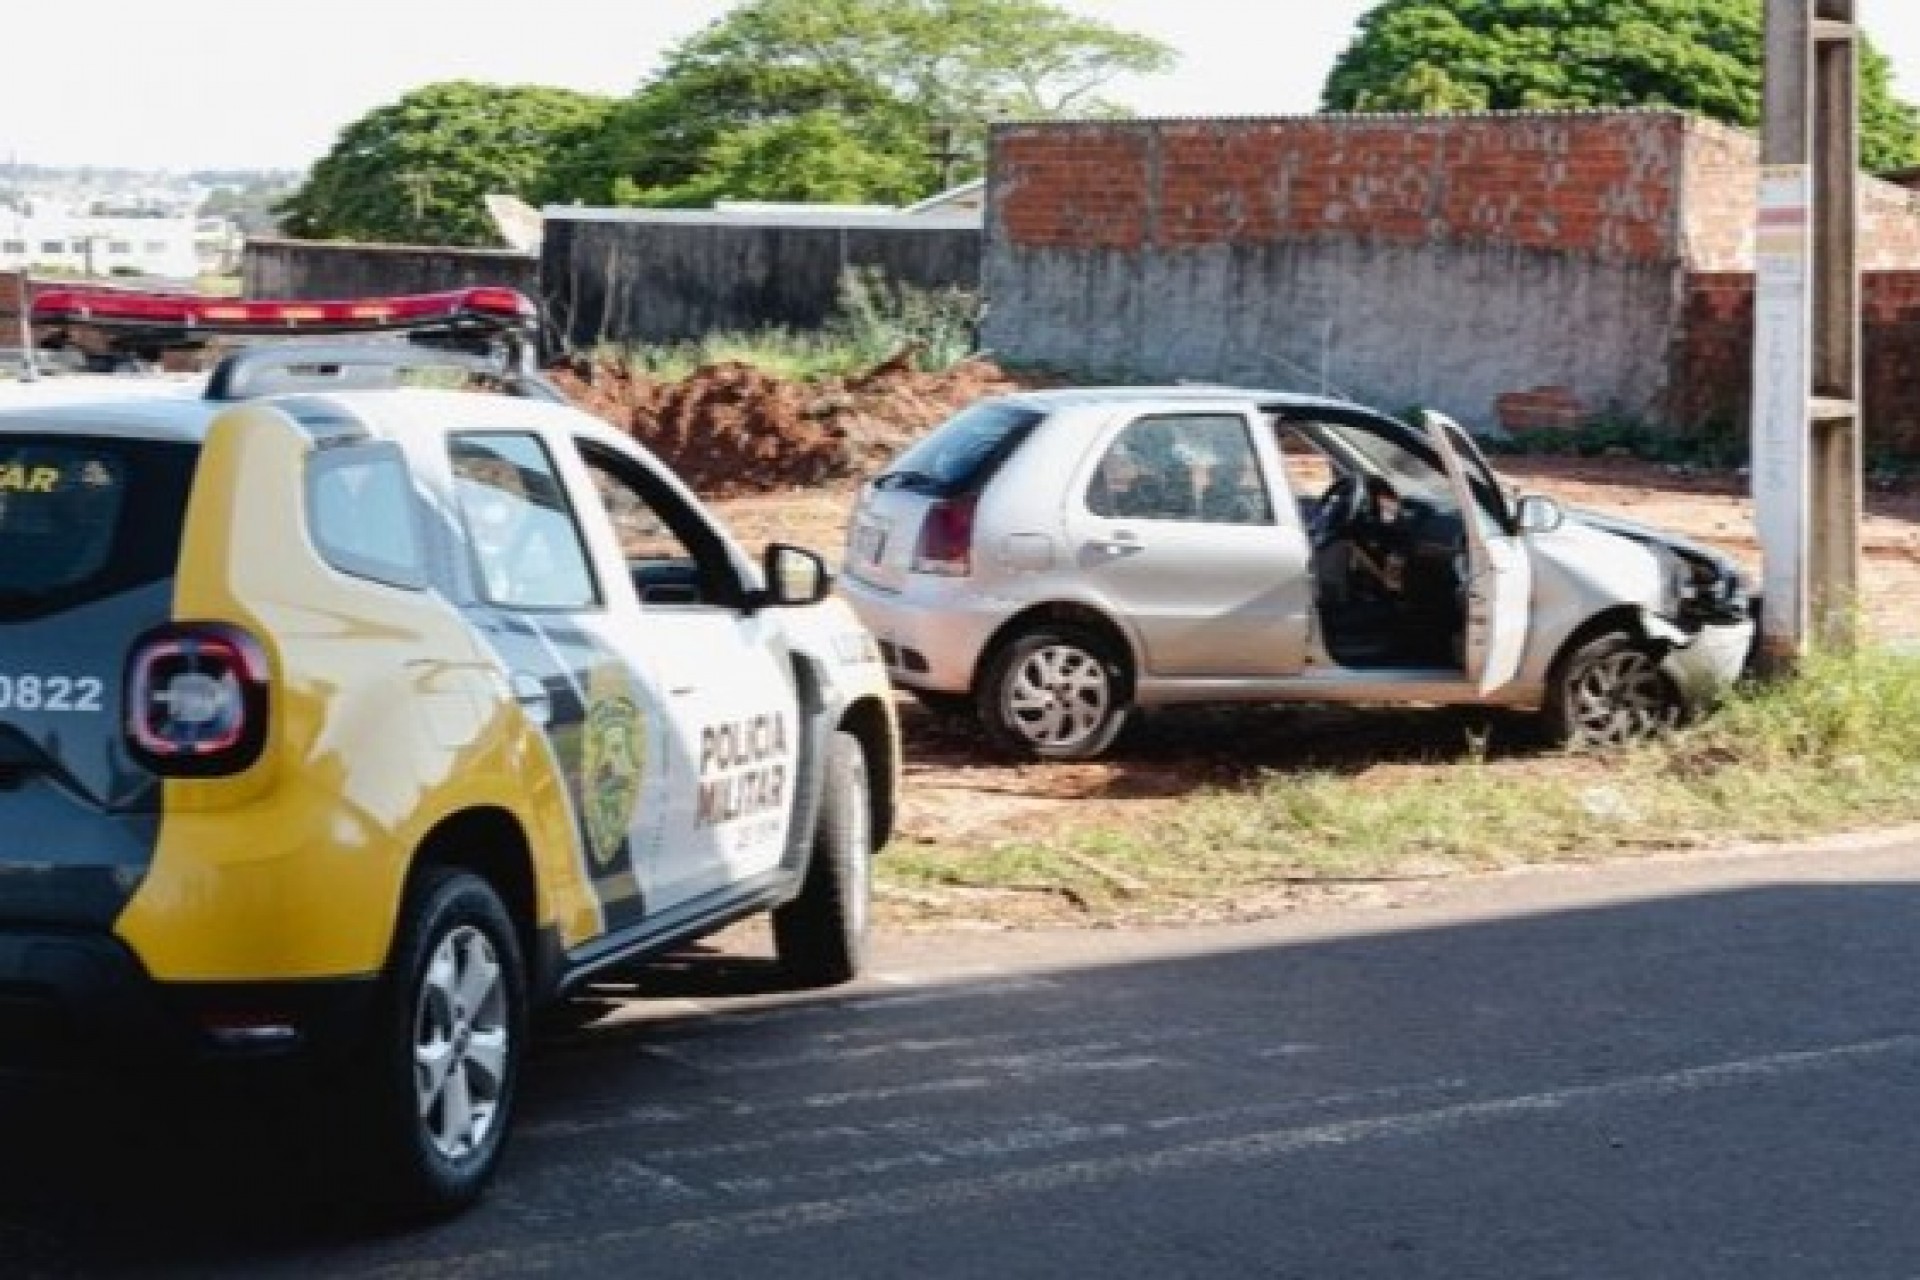
[{"label": "open front door of the crashed silver hatchback", "polygon": [[1526,651],[1532,608],[1532,564],[1526,543],[1511,532],[1507,499],[1473,438],[1444,413],[1421,415],[1427,438],[1446,464],[1467,533],[1467,679],[1484,695],[1513,681]]}]

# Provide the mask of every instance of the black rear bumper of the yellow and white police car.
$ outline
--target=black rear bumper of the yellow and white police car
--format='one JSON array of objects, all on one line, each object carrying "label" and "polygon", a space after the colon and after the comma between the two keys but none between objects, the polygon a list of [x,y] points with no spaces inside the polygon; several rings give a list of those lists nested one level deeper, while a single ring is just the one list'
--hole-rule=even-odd
[{"label": "black rear bumper of the yellow and white police car", "polygon": [[0,927],[0,1067],[334,1054],[367,1027],[372,979],[156,983],[117,938]]}]

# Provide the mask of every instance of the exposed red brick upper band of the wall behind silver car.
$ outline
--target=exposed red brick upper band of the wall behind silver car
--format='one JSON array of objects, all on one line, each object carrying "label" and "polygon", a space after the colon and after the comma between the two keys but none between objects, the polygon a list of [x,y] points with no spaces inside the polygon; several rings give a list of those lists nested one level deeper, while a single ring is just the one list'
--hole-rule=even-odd
[{"label": "exposed red brick upper band of the wall behind silver car", "polygon": [[1670,111],[1008,125],[993,217],[1016,248],[1308,238],[1680,255]]}]

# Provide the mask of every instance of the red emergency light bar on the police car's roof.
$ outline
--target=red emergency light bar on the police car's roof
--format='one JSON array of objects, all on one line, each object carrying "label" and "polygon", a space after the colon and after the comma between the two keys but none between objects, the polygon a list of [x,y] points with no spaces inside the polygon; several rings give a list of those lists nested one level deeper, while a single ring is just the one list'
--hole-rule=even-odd
[{"label": "red emergency light bar on the police car's roof", "polygon": [[238,301],[132,290],[42,290],[35,324],[184,330],[196,334],[355,334],[461,324],[528,326],[540,317],[518,290],[482,286],[445,294],[334,301]]}]

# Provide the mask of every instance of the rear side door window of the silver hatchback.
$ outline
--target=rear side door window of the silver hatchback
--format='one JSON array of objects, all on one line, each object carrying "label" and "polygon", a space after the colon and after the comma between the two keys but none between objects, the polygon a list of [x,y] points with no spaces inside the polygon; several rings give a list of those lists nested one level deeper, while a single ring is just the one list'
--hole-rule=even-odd
[{"label": "rear side door window of the silver hatchback", "polygon": [[1094,468],[1085,503],[1106,518],[1273,524],[1254,438],[1238,415],[1164,415],[1127,424]]}]

